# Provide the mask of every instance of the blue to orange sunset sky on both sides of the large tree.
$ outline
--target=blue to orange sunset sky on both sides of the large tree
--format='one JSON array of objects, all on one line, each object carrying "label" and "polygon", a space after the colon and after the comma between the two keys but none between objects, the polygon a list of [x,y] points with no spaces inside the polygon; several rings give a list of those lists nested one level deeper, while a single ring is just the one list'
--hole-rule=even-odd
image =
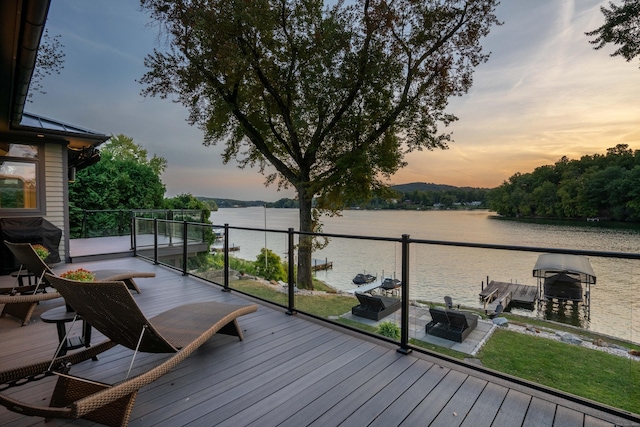
[{"label": "blue to orange sunset sky on both sides of the large tree", "polygon": [[[620,3],[616,1],[615,3]],[[599,0],[504,0],[504,25],[483,41],[491,52],[473,88],[451,100],[460,119],[450,149],[407,156],[392,183],[495,187],[563,155],[604,153],[616,144],[640,149],[638,59],[595,51],[586,31],[603,23]],[[47,27],[61,34],[65,68],[43,81],[25,110],[105,134],[124,134],[168,161],[167,195],[180,193],[275,201],[291,191],[265,188],[256,169],[223,165],[221,147],[204,147],[187,110],[143,98],[136,82],[145,55],[159,46],[156,28],[132,0],[54,0]]]}]

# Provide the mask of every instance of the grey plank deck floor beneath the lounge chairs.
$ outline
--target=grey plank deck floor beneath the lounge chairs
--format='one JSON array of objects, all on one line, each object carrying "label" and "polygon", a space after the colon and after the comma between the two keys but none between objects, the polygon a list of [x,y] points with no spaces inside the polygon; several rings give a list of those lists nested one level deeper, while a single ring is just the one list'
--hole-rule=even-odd
[{"label": "grey plank deck floor beneath the lounge chairs", "polygon": [[[137,258],[74,264],[87,269],[154,271],[137,280],[134,297],[147,315],[200,300],[245,302],[237,293]],[[56,271],[65,271],[64,266]],[[4,276],[6,277],[6,276]],[[4,279],[4,277],[2,279]],[[41,303],[41,313],[62,305]],[[34,315],[21,327],[0,319],[0,369],[50,357],[55,327]],[[637,425],[554,394],[489,375],[472,365],[450,363],[346,332],[305,316],[261,305],[239,319],[245,340],[215,336],[176,369],[143,388],[131,426],[614,426]],[[79,326],[79,325],[78,325]],[[93,341],[98,342],[94,333]],[[114,382],[122,379],[131,351],[116,347],[73,373]],[[166,356],[143,354],[138,369]],[[16,397],[41,401],[48,380],[12,389]],[[636,424],[634,424],[636,423]],[[0,407],[3,426],[89,426],[86,421],[26,417]]]}]

